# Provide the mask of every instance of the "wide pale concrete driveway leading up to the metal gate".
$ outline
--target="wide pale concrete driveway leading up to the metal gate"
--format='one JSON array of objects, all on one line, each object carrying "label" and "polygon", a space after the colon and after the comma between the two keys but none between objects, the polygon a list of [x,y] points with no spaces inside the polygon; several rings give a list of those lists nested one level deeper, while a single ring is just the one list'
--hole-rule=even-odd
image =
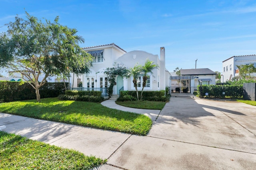
[{"label": "wide pale concrete driveway leading up to the metal gate", "polygon": [[132,135],[109,159],[126,169],[256,169],[256,107],[171,98],[146,137]]}]

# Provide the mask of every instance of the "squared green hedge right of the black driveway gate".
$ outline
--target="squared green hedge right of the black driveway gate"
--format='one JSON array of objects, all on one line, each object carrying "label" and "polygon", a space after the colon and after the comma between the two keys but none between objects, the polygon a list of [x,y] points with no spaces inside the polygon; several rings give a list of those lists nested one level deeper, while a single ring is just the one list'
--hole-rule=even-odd
[{"label": "squared green hedge right of the black driveway gate", "polygon": [[[208,93],[210,98],[242,98],[244,94],[243,85],[202,85],[202,96]],[[223,94],[225,92],[225,94]]]}]

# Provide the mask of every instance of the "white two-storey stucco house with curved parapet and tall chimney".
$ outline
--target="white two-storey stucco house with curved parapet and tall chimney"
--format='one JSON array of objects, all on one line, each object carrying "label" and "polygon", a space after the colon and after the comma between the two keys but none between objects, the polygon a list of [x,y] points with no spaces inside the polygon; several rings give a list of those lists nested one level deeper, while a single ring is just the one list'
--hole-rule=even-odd
[{"label": "white two-storey stucco house with curved parapet and tall chimney", "polygon": [[[107,88],[110,84],[104,71],[108,67],[113,67],[114,63],[126,68],[134,67],[136,63],[144,65],[146,59],[158,64],[159,69],[154,69],[153,74],[148,74],[148,80],[144,90],[165,90],[169,86],[170,73],[165,68],[165,49],[160,47],[160,58],[145,51],[126,52],[114,43],[82,48],[90,53],[94,59],[93,66],[89,74],[83,74],[80,78],[74,78],[74,87],[82,81],[84,88]],[[116,85],[113,94],[119,94],[120,90],[135,90],[132,77],[116,77]],[[138,90],[142,89],[142,75],[138,78]]]}]

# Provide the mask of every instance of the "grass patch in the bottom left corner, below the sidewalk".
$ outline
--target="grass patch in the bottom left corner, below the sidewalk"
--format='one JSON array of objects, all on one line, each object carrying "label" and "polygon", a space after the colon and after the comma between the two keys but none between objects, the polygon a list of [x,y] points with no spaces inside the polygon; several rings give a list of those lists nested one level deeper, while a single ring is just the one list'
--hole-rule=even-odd
[{"label": "grass patch in the bottom left corner, below the sidewalk", "polygon": [[106,163],[95,156],[0,131],[0,169],[87,170]]}]

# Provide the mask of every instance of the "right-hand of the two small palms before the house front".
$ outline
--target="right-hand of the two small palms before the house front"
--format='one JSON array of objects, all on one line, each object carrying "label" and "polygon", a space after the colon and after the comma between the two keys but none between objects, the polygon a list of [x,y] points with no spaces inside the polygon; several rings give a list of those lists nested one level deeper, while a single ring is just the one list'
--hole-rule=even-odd
[{"label": "right-hand of the two small palms before the house front", "polygon": [[153,74],[152,70],[155,68],[159,68],[158,64],[154,64],[153,61],[146,59],[145,65],[142,66],[142,71],[144,72],[144,74],[143,74],[143,84],[142,84],[142,90],[140,94],[140,100],[142,100],[142,93],[143,93],[144,87],[146,86],[146,82],[148,80],[147,74],[148,73]]}]

